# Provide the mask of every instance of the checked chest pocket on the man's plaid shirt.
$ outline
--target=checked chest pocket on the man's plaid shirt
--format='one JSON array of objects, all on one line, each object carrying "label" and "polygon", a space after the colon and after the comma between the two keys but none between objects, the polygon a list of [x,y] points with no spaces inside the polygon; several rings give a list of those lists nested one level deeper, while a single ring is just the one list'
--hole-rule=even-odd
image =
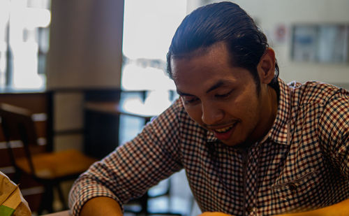
[{"label": "checked chest pocket on the man's plaid shirt", "polygon": [[291,202],[295,206],[300,203],[309,205],[313,196],[318,194],[320,178],[318,173],[319,171],[313,170],[294,180],[274,184],[272,192],[275,198],[281,202]]}]

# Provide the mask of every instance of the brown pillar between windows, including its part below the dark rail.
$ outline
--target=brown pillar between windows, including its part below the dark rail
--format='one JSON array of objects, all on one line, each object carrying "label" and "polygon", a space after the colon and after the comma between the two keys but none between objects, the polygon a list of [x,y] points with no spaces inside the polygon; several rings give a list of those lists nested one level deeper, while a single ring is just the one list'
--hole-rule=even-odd
[{"label": "brown pillar between windows, including its part below the dark rail", "polygon": [[124,1],[60,0],[51,10],[47,89],[54,150],[82,150],[84,92],[120,87]]}]

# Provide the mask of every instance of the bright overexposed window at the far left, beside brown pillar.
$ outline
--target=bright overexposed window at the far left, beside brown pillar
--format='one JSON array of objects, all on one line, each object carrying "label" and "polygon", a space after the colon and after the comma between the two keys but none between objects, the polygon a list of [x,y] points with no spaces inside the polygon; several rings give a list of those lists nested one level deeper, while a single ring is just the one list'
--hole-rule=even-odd
[{"label": "bright overexposed window at the far left, beside brown pillar", "polygon": [[0,88],[44,89],[50,0],[0,1]]}]

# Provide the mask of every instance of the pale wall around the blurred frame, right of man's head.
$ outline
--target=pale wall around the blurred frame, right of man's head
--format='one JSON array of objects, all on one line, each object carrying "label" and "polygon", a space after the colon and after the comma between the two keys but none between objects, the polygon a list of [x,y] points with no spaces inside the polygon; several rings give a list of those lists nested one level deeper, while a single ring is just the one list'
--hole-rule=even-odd
[{"label": "pale wall around the blurred frame, right of man's head", "polygon": [[[204,1],[207,3],[207,1]],[[216,2],[216,1],[215,1]],[[297,80],[320,80],[349,89],[349,64],[319,64],[292,62],[290,27],[301,23],[344,23],[349,24],[348,0],[236,0],[233,1],[257,20],[267,34],[276,51],[280,66],[280,77],[290,82]],[[283,43],[273,41],[278,25],[285,25]]]}]

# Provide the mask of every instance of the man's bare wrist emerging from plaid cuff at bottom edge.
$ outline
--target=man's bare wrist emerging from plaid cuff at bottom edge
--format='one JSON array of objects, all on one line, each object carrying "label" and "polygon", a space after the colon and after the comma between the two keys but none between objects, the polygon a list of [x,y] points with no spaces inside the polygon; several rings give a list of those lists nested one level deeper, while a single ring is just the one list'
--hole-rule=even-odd
[{"label": "man's bare wrist emerging from plaid cuff at bottom edge", "polygon": [[98,196],[87,201],[82,206],[80,216],[122,216],[123,213],[117,201],[106,196]]}]

